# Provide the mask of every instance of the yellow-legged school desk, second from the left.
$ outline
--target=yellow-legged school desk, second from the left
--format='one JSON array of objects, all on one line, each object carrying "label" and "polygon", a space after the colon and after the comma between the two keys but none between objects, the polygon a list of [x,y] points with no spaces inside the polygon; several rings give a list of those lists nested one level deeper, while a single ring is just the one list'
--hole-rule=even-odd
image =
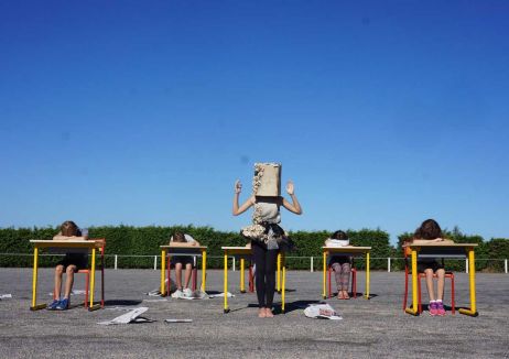
[{"label": "yellow-legged school desk, second from the left", "polygon": [[[205,292],[206,285],[206,271],[207,271],[207,247],[203,246],[160,246],[161,247],[161,295],[165,296],[166,294],[170,295],[170,261],[166,264],[166,255],[167,257],[202,257],[202,292]],[[167,265],[167,282],[166,286],[164,286],[165,282],[165,270]],[[193,281],[196,281],[196,278],[193,275]]]}]

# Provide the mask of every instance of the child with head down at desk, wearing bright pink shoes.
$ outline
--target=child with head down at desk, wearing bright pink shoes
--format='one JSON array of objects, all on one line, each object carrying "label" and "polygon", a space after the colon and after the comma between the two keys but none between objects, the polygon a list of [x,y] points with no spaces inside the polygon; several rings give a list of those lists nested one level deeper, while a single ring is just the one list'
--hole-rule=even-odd
[{"label": "child with head down at desk, wearing bright pink shoes", "polygon": [[[454,243],[452,240],[442,237],[442,229],[434,219],[426,219],[422,222],[421,227],[415,230],[411,242],[414,244],[425,244],[430,242]],[[426,274],[426,289],[427,295],[430,296],[430,315],[445,315],[444,304],[442,303],[445,285],[444,266],[434,258],[424,258],[418,261],[418,270]],[[437,275],[436,296],[433,287],[433,273]]]}]

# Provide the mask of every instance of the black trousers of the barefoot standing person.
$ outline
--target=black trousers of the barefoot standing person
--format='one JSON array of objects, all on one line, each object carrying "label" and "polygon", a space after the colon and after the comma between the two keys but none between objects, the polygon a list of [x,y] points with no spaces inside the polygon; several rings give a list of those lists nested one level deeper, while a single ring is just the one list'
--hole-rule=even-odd
[{"label": "black trousers of the barefoot standing person", "polygon": [[275,292],[277,249],[268,250],[263,243],[251,241],[252,259],[257,265],[256,286],[260,308],[272,307]]}]

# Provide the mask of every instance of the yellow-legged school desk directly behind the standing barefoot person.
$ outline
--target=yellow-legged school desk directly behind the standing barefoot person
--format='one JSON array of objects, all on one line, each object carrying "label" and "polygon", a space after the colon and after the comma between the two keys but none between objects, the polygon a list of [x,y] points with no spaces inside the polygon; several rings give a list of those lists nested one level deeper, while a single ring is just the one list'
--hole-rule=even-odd
[{"label": "yellow-legged school desk directly behind the standing barefoot person", "polygon": [[[221,247],[225,252],[224,258],[224,289],[225,293],[225,306],[224,313],[228,313],[230,309],[228,307],[228,257],[235,257],[240,260],[240,292],[246,293],[245,290],[245,260],[251,260],[252,250],[251,247]],[[278,253],[278,292],[281,292],[281,311],[284,313],[284,287],[285,287],[285,278],[286,278],[286,265],[284,261],[284,253]]]}]

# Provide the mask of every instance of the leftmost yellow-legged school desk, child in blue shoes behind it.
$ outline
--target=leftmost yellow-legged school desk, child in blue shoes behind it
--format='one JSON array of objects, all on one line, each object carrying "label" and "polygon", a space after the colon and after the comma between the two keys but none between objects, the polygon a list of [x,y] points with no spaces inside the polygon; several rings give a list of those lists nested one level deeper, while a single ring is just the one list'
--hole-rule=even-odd
[{"label": "leftmost yellow-legged school desk, child in blue shoes behind it", "polygon": [[[104,246],[102,241],[95,241],[90,240],[40,240],[40,239],[32,239],[30,240],[31,243],[34,244],[33,250],[33,276],[32,276],[32,306],[30,307],[31,311],[39,311],[46,307],[46,304],[36,304],[37,300],[37,272],[39,272],[39,249],[44,248],[52,252],[61,252],[61,253],[83,253],[83,252],[90,252],[91,251],[91,268],[90,268],[90,293],[89,293],[89,306],[88,311],[95,311],[104,305],[104,301],[101,304],[94,304],[94,291],[96,284],[96,249]],[[101,273],[102,273],[102,281],[101,281],[101,294],[104,297],[105,293],[105,281],[104,281],[104,271],[105,271],[105,262],[104,257],[101,255]]]}]

